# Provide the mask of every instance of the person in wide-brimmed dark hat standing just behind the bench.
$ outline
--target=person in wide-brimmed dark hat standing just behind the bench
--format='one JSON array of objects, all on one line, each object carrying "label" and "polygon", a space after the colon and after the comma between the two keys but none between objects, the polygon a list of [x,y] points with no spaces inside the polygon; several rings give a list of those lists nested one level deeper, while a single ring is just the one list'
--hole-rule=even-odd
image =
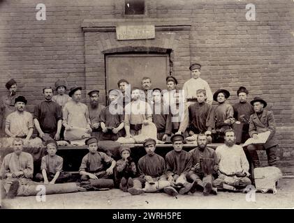
[{"label": "person in wide-brimmed dark hat standing just behind the bench", "polygon": [[230,97],[230,92],[226,89],[217,90],[213,98],[219,104],[214,106],[215,131],[214,142],[223,143],[224,131],[229,129],[234,123],[234,109],[227,101]]}]

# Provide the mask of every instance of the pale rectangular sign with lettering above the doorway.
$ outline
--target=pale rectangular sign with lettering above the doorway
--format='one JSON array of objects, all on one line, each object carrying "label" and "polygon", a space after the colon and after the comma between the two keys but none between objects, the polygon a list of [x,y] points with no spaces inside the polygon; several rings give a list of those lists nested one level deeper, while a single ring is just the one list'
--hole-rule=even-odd
[{"label": "pale rectangular sign with lettering above the doorway", "polygon": [[117,26],[117,40],[142,40],[155,38],[155,26]]}]

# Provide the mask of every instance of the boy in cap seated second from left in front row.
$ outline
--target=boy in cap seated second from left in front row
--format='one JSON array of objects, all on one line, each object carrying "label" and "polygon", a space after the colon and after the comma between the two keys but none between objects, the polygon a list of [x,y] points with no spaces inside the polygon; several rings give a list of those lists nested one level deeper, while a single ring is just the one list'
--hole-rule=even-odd
[{"label": "boy in cap seated second from left in front row", "polygon": [[46,144],[48,154],[42,157],[42,174],[36,174],[36,179],[44,181],[45,184],[66,183],[71,174],[62,171],[64,159],[56,155],[58,149],[57,142],[50,140]]}]

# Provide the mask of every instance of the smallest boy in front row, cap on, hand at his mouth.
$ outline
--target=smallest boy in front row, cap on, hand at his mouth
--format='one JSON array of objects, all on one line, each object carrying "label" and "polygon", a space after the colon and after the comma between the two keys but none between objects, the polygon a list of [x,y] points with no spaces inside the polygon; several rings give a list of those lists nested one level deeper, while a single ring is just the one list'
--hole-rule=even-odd
[{"label": "smallest boy in front row, cap on, hand at his mouth", "polygon": [[131,158],[131,149],[128,146],[121,146],[119,154],[122,159],[117,161],[117,181],[119,182],[119,189],[128,192],[128,188],[133,187],[130,178],[135,178],[137,169]]}]

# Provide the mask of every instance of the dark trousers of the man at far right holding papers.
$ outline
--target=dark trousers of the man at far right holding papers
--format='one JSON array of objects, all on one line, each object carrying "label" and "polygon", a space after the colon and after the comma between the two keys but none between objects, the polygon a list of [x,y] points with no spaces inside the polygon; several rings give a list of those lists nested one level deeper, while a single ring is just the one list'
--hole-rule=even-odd
[{"label": "dark trousers of the man at far right holding papers", "polygon": [[249,145],[247,146],[248,153],[254,167],[260,167],[260,160],[257,154],[257,150],[265,150],[267,153],[267,162],[270,166],[277,166],[277,145],[265,149],[263,145]]}]

